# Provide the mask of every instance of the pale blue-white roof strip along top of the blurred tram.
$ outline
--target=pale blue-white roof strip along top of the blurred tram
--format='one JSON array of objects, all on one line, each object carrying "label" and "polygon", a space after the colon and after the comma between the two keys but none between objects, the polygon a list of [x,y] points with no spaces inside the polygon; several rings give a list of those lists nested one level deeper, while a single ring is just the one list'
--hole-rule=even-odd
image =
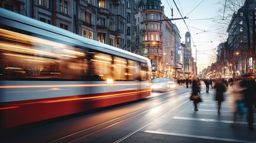
[{"label": "pale blue-white roof strip along top of the blurred tram", "polygon": [[[123,49],[116,48],[114,46],[107,45],[105,43],[101,43],[89,38],[82,37],[80,35],[76,35],[75,33],[72,33],[68,30],[61,29],[59,27],[53,26],[51,24],[47,24],[38,20],[34,20],[33,18],[26,17],[21,14],[14,13],[13,11],[5,10],[4,8],[0,8],[0,17],[4,17],[8,20],[11,20],[10,23],[5,23],[0,20],[1,24],[5,24],[8,26],[16,27],[17,29],[24,29],[26,31],[32,32],[32,33],[39,33],[39,35],[47,36],[53,35],[51,37],[54,37],[56,39],[59,39],[61,41],[66,41],[73,43],[75,45],[85,45],[87,48],[96,49],[98,51],[107,52],[109,54],[115,54],[122,57],[127,57],[132,60],[137,61],[147,61],[147,63],[150,63],[150,60],[146,57],[143,57],[141,55],[134,54],[132,52],[125,51]],[[15,24],[14,21],[19,22],[20,24]],[[42,31],[43,30],[43,31]],[[51,32],[51,33],[49,33]],[[62,36],[60,36],[62,35]],[[63,37],[65,36],[65,37]],[[69,38],[69,39],[67,39]],[[71,39],[73,40],[71,40]],[[74,41],[75,40],[75,41]],[[80,44],[79,44],[79,43]],[[150,66],[150,65],[149,65]]]}]

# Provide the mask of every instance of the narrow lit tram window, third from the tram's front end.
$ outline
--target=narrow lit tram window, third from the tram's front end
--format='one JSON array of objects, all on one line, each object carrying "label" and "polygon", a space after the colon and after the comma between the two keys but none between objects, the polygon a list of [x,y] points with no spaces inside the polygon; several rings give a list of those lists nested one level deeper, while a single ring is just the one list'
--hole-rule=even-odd
[{"label": "narrow lit tram window, third from the tram's front end", "polygon": [[127,80],[127,60],[114,57],[114,79]]}]

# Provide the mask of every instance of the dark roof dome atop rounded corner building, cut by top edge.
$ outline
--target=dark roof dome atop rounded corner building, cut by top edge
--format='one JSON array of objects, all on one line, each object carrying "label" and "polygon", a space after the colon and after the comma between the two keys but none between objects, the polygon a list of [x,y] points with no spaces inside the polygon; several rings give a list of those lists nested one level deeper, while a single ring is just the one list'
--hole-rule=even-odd
[{"label": "dark roof dome atop rounded corner building, cut by top edge", "polygon": [[138,1],[137,7],[138,10],[160,10],[161,8],[161,0],[141,0]]}]

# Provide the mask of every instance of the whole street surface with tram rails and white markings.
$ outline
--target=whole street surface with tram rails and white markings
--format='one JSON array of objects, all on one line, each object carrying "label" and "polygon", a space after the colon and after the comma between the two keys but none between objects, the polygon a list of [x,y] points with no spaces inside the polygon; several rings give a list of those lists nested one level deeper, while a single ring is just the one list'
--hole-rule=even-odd
[{"label": "whole street surface with tram rails and white markings", "polygon": [[[205,92],[199,111],[189,101],[191,86],[155,93],[144,100],[90,110],[74,116],[22,126],[1,142],[256,142],[246,116],[233,121],[229,90],[217,114],[215,89]],[[254,116],[255,117],[255,116]],[[255,125],[255,123],[254,123]]]}]

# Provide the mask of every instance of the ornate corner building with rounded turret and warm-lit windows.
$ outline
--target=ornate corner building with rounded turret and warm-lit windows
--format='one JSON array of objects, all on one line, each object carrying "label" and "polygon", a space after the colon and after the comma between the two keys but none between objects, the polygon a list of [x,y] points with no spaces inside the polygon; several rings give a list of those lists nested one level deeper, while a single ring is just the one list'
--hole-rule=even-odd
[{"label": "ornate corner building with rounded turret and warm-lit windows", "polygon": [[141,0],[136,2],[137,54],[151,60],[153,77],[173,77],[175,60],[175,35],[172,23],[161,7],[161,0]]}]

